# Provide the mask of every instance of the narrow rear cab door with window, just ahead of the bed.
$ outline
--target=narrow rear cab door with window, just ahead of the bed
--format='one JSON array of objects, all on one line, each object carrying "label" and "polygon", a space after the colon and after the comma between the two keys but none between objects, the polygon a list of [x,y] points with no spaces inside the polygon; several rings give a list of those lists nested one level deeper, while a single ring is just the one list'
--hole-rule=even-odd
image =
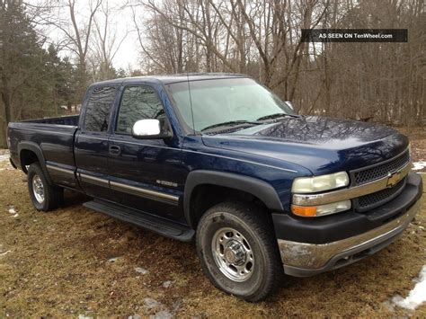
[{"label": "narrow rear cab door with window, just ahead of the bed", "polygon": [[118,89],[102,85],[89,89],[75,137],[77,177],[90,196],[108,199],[111,196],[108,179],[108,154],[111,110]]}]

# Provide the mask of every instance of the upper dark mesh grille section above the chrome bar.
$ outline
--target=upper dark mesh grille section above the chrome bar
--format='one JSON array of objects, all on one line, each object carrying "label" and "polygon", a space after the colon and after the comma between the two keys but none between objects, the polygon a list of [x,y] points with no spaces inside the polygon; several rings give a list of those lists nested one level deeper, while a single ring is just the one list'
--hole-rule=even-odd
[{"label": "upper dark mesh grille section above the chrome bar", "polygon": [[403,155],[391,159],[386,163],[377,164],[373,167],[353,173],[354,183],[355,185],[362,185],[384,178],[388,173],[394,173],[404,167],[409,161],[410,154],[408,150],[406,150]]}]

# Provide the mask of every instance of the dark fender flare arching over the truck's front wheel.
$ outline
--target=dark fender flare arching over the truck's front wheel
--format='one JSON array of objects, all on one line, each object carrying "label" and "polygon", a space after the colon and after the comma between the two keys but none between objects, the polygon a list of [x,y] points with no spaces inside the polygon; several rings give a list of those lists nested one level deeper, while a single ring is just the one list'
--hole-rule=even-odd
[{"label": "dark fender flare arching over the truck's front wheel", "polygon": [[268,182],[235,173],[197,170],[188,174],[183,192],[183,212],[190,226],[193,226],[191,196],[194,189],[200,185],[223,186],[238,191],[245,191],[261,199],[267,208],[283,210],[277,191]]}]

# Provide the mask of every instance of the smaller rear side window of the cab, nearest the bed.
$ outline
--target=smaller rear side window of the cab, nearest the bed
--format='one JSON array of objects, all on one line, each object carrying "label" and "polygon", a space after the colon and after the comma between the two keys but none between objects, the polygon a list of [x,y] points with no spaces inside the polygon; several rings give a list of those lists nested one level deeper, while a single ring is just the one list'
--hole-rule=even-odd
[{"label": "smaller rear side window of the cab, nearest the bed", "polygon": [[112,86],[95,87],[87,102],[84,116],[84,130],[104,132],[108,130],[110,112],[117,88]]}]

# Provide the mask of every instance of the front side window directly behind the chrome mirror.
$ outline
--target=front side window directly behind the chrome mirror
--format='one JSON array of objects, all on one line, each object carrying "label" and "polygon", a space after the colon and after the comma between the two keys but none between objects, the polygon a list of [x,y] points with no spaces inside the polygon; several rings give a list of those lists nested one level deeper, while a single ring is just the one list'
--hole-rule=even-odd
[{"label": "front side window directly behind the chrome mirror", "polygon": [[121,98],[116,132],[131,134],[133,124],[146,119],[165,120],[163,104],[157,93],[146,85],[126,87]]}]

